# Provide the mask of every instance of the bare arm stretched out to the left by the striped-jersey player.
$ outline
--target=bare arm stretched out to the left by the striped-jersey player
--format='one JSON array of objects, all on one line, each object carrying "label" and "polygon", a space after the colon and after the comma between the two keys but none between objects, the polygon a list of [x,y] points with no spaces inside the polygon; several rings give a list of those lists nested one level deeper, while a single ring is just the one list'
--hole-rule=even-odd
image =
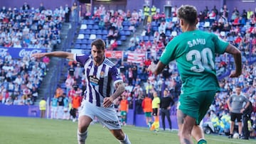
[{"label": "bare arm stretched out to the left by the striped-jersey player", "polygon": [[74,60],[74,54],[71,52],[63,52],[63,51],[55,51],[55,52],[41,52],[41,53],[33,53],[31,57],[33,58],[41,58],[41,57],[63,57],[69,60]]}]

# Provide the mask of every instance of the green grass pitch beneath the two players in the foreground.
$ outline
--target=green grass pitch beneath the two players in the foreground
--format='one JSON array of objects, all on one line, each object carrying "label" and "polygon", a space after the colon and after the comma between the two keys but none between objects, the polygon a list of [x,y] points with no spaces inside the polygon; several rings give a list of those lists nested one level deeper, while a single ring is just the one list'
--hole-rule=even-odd
[{"label": "green grass pitch beneath the two players in the foreground", "polygon": [[[2,144],[76,144],[78,123],[41,118],[0,116],[0,143]],[[177,131],[154,133],[147,128],[124,126],[132,144],[178,144]],[[209,144],[256,143],[256,140],[228,139],[226,136],[206,135]],[[114,136],[100,124],[89,127],[87,144],[118,144]]]}]

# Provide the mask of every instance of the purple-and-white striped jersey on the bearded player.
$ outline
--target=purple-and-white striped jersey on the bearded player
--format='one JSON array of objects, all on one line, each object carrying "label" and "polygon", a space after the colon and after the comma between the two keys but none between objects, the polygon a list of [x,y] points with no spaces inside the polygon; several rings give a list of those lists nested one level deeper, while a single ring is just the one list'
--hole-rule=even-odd
[{"label": "purple-and-white striped jersey on the bearded player", "polygon": [[85,68],[85,101],[102,106],[103,99],[114,92],[114,85],[123,82],[114,63],[105,58],[100,66],[93,63],[91,55],[74,55],[74,60]]}]

